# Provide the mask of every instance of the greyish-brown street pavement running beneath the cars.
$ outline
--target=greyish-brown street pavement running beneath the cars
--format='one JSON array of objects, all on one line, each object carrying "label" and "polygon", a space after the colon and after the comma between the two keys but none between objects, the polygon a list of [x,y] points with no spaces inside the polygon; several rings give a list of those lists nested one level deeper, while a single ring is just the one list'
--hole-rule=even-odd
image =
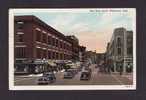
[{"label": "greyish-brown street pavement running beneath the cars", "polygon": [[[99,72],[99,68],[95,68],[92,64],[90,80],[80,80],[81,72],[78,72],[72,79],[64,79],[64,72],[55,73],[56,81],[49,85],[131,85],[132,78],[125,75],[106,74]],[[17,75],[14,79],[14,85],[37,85],[37,79],[40,75]]]}]

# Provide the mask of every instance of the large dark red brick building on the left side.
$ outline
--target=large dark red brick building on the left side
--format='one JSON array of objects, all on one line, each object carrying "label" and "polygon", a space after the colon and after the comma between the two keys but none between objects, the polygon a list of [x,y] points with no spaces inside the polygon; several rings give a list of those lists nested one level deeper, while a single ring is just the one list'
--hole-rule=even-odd
[{"label": "large dark red brick building on the left side", "polygon": [[77,38],[64,36],[35,16],[15,16],[14,24],[15,71],[44,69],[42,62],[78,58]]}]

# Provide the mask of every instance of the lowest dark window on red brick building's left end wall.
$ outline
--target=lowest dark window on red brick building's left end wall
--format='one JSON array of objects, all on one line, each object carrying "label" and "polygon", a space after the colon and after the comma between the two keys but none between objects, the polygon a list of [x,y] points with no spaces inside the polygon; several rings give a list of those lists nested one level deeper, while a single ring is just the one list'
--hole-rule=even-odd
[{"label": "lowest dark window on red brick building's left end wall", "polygon": [[19,48],[17,47],[15,50],[16,50],[16,52],[15,52],[16,58],[25,58],[26,57],[24,47],[19,47]]}]

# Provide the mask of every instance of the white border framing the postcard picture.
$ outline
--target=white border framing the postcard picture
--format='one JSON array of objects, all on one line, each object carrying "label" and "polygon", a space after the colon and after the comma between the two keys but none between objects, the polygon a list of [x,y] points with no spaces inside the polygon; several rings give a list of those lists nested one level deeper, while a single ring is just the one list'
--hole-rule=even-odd
[{"label": "white border framing the postcard picture", "polygon": [[[34,10],[35,9],[35,10]],[[89,10],[128,10],[133,13],[133,85],[51,85],[14,86],[14,13],[25,12],[87,12]],[[135,90],[136,89],[136,8],[72,8],[72,9],[9,9],[9,90]]]}]

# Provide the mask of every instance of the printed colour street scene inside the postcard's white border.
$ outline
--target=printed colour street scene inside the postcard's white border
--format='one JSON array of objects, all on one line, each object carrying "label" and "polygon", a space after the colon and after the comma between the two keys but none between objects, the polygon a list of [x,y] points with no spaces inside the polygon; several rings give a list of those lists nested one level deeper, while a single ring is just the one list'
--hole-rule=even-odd
[{"label": "printed colour street scene inside the postcard's white border", "polygon": [[130,11],[16,12],[13,17],[14,86],[133,85]]}]

